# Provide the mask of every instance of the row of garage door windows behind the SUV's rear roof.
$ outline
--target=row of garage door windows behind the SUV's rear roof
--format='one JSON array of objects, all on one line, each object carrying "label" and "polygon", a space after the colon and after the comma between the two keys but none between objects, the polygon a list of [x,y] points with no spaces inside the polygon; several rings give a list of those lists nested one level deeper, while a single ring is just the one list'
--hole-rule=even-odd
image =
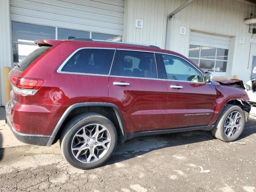
[{"label": "row of garage door windows behind the SUV's rear roof", "polygon": [[13,65],[22,61],[26,56],[38,48],[38,46],[34,44],[34,40],[56,38],[67,39],[68,36],[73,36],[75,38],[122,41],[122,36],[117,35],[12,22]]}]

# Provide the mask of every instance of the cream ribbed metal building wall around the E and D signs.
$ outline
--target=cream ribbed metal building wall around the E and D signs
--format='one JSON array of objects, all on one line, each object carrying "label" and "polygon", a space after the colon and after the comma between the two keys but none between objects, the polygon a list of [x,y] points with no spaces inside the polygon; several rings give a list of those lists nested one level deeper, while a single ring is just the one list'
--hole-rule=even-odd
[{"label": "cream ribbed metal building wall around the E and D signs", "polygon": [[[126,0],[124,40],[165,48],[167,16],[186,0]],[[244,18],[254,16],[255,7],[236,0],[195,0],[171,20],[170,44],[167,49],[188,56],[190,30],[231,37],[227,76],[250,79],[249,49],[252,34]],[[135,20],[143,20],[143,28],[135,28]],[[186,35],[180,27],[186,27]],[[244,37],[244,44],[239,43]],[[252,46],[252,52],[255,52]]]}]

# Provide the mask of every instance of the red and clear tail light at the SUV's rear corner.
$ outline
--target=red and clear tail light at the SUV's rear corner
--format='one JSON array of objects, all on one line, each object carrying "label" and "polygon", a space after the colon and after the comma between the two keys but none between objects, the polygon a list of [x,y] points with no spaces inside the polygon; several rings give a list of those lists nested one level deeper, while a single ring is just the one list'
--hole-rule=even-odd
[{"label": "red and clear tail light at the SUV's rear corner", "polygon": [[10,82],[12,83],[12,90],[14,92],[21,95],[34,95],[42,86],[44,80],[39,78],[11,77]]}]

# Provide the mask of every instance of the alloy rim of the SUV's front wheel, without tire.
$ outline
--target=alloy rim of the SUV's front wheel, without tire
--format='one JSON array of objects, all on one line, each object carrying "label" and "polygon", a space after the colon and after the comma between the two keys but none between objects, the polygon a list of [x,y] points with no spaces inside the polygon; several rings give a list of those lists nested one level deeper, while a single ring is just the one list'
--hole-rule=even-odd
[{"label": "alloy rim of the SUV's front wheel, without tire", "polygon": [[224,133],[228,138],[235,137],[242,127],[242,116],[240,112],[233,111],[228,114],[224,123]]}]

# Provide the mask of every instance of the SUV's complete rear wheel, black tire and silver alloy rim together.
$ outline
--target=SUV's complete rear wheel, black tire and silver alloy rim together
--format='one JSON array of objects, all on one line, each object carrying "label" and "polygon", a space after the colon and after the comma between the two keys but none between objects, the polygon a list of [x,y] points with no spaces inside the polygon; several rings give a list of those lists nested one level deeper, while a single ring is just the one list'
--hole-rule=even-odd
[{"label": "SUV's complete rear wheel, black tire and silver alloy rim together", "polygon": [[62,132],[61,150],[74,167],[91,169],[110,158],[117,143],[117,133],[112,122],[97,113],[76,116]]}]

